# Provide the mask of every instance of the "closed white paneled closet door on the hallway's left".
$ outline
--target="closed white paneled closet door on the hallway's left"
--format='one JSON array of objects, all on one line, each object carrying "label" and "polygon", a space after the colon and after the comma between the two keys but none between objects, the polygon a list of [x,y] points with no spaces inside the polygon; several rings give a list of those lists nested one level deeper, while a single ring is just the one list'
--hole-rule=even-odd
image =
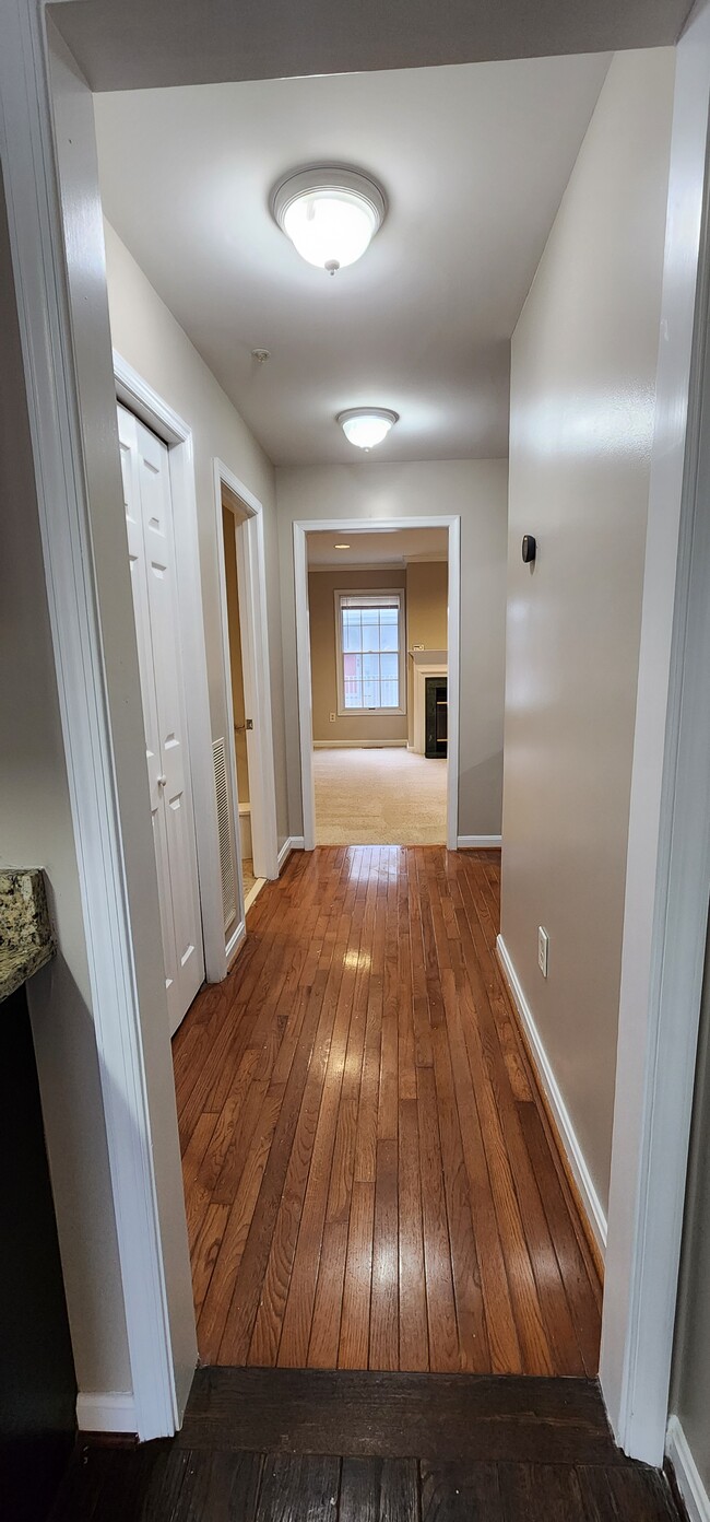
[{"label": "closed white paneled closet door on the hallway's left", "polygon": [[167,449],[119,406],[170,1035],[205,976]]}]

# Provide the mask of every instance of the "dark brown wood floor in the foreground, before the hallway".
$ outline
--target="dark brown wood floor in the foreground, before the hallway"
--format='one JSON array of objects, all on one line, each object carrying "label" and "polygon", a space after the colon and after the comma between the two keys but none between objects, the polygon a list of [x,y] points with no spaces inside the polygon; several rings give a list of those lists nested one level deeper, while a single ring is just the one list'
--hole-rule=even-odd
[{"label": "dark brown wood floor in the foreground, before the hallway", "polygon": [[79,1444],[52,1522],[680,1522],[596,1380],[205,1368],[172,1441]]}]

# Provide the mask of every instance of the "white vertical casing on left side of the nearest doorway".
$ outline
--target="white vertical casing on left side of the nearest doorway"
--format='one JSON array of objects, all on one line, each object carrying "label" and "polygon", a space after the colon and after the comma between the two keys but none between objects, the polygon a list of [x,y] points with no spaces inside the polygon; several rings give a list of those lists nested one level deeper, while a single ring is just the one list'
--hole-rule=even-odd
[{"label": "white vertical casing on left side of the nearest doorway", "polygon": [[[134,1387],[131,1426],[152,1438],[175,1432],[179,1400],[46,49],[44,9],[8,0],[0,154]],[[108,345],[105,364],[109,380]],[[116,429],[114,419],[106,426]]]}]

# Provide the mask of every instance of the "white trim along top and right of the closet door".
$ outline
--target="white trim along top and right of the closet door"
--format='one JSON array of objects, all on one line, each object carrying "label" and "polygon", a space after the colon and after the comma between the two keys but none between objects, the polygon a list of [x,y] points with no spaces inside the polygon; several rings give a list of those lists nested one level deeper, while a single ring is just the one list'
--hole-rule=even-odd
[{"label": "white trim along top and right of the closet door", "polygon": [[114,377],[117,400],[167,444],[205,977],[219,983],[227,963],[192,429],[116,349]]}]

